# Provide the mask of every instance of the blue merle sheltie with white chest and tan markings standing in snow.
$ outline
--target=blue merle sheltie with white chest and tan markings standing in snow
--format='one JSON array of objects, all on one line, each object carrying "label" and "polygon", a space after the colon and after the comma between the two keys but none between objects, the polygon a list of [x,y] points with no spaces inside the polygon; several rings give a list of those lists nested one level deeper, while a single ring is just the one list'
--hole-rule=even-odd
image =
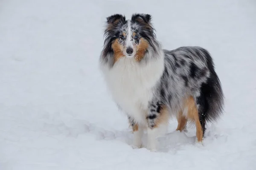
[{"label": "blue merle sheltie with white chest and tan markings standing in snow", "polygon": [[169,51],[157,41],[149,14],[107,17],[100,68],[114,102],[124,111],[134,132],[134,148],[142,147],[147,130],[149,150],[157,150],[160,127],[170,116],[184,130],[195,122],[202,142],[206,122],[223,111],[224,95],[209,52],[201,47]]}]

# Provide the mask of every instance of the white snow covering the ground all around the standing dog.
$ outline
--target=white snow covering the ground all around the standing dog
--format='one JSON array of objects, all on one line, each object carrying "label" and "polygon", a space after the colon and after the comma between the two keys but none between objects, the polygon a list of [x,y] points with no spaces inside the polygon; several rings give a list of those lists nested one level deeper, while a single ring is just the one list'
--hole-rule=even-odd
[{"label": "white snow covering the ground all around the standing dog", "polygon": [[[149,13],[164,48],[207,48],[225,112],[207,126],[133,149],[128,121],[99,71],[105,17]],[[255,170],[254,0],[2,0],[0,170]],[[145,141],[145,136],[143,136]]]}]

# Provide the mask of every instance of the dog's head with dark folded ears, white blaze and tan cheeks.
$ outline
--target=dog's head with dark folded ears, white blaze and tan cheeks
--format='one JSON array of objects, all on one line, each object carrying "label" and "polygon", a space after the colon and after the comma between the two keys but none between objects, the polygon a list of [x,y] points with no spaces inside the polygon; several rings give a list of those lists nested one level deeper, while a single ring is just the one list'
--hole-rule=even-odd
[{"label": "dog's head with dark folded ears, white blaze and tan cheeks", "polygon": [[103,56],[113,54],[114,62],[121,57],[140,61],[148,50],[158,46],[149,14],[133,14],[131,20],[121,14],[111,15],[107,17],[105,35]]}]

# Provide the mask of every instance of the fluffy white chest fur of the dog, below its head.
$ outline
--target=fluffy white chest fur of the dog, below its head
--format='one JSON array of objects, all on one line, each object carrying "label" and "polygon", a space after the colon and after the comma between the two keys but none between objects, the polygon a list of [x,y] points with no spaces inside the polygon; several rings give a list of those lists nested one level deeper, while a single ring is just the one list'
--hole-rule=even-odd
[{"label": "fluffy white chest fur of the dog, below its head", "polygon": [[143,65],[133,58],[123,57],[103,72],[114,101],[135,121],[145,124],[148,103],[163,69],[162,58]]}]

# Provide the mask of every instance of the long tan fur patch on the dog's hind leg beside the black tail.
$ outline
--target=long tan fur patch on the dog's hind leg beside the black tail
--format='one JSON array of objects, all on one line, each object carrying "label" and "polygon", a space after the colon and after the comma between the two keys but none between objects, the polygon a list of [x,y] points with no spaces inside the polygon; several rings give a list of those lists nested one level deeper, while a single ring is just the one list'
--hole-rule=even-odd
[{"label": "long tan fur patch on the dog's hind leg beside the black tail", "polygon": [[191,119],[195,122],[196,126],[196,137],[198,138],[198,142],[201,142],[203,139],[203,129],[199,120],[198,109],[195,105],[195,100],[192,96],[190,96],[185,102],[185,108],[188,109],[187,118]]}]

